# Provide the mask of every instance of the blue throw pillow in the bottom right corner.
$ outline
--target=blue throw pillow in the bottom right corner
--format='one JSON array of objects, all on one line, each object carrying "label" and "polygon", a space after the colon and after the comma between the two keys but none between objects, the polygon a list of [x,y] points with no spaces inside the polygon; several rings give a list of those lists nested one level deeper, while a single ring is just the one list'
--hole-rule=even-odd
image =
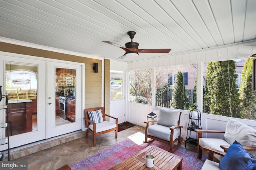
[{"label": "blue throw pillow in the bottom right corner", "polygon": [[220,160],[221,170],[254,170],[255,166],[256,159],[252,158],[237,141],[234,141]]}]

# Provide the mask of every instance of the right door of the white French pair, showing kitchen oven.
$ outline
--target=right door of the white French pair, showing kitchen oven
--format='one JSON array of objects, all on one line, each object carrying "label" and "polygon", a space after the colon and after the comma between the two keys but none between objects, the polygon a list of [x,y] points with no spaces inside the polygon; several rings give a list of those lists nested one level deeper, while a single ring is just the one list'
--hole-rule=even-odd
[{"label": "right door of the white French pair, showing kitchen oven", "polygon": [[47,138],[81,129],[81,65],[47,61]]}]

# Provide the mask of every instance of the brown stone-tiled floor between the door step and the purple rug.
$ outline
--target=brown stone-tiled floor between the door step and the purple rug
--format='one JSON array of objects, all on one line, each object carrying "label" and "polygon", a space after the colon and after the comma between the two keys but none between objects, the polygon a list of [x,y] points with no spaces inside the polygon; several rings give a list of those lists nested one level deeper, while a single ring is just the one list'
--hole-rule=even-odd
[{"label": "brown stone-tiled floor between the door step and the purple rug", "polygon": [[[118,132],[115,138],[115,131],[96,137],[96,147],[93,147],[92,135],[64,143],[49,149],[16,159],[17,161],[28,161],[28,170],[56,170],[65,164],[72,164],[100,152],[116,143],[127,139],[128,136],[137,132],[144,133],[144,127],[134,126]],[[184,141],[182,142],[184,146]],[[187,145],[187,148],[196,152],[196,146]]]}]

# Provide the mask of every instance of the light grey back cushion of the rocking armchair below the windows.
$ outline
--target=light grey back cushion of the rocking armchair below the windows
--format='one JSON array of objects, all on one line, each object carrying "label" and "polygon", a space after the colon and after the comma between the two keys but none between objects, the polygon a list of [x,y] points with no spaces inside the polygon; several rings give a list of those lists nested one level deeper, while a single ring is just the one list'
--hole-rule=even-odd
[{"label": "light grey back cushion of the rocking armchair below the windows", "polygon": [[160,107],[156,124],[171,127],[178,125],[180,111]]}]

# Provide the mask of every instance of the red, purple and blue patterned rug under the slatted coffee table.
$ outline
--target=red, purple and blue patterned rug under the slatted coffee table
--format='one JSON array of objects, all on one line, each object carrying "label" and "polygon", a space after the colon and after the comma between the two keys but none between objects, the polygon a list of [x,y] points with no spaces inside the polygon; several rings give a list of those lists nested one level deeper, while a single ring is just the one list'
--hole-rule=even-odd
[{"label": "red, purple and blue patterned rug under the slatted coffee table", "polygon": [[[149,145],[169,150],[169,146],[167,144],[158,141],[142,143],[141,145],[136,143],[137,142],[134,142],[131,139],[126,139],[112,147],[71,164],[70,167],[72,170],[108,170]],[[182,146],[178,147],[174,154],[183,158],[183,170],[201,170],[204,161],[207,159],[204,155],[202,155],[202,159],[198,159],[195,152],[192,152]]]}]

